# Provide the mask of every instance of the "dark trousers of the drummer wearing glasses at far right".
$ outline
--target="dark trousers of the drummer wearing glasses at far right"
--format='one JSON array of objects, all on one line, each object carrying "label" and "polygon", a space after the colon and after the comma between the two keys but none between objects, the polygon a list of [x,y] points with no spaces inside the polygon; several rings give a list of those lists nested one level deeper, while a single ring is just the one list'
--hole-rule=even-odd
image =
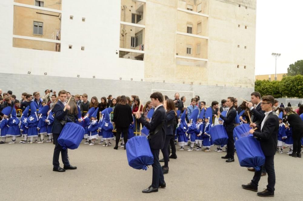
[{"label": "dark trousers of the drummer wearing glasses at far right", "polygon": [[[266,167],[266,172],[268,175],[267,190],[269,192],[275,191],[276,175],[275,175],[275,167],[274,167],[274,156],[275,155],[265,156],[265,167]],[[251,180],[251,185],[258,186],[258,183],[260,181],[261,174],[262,174],[262,168],[263,168],[263,166],[261,166],[261,169],[259,171],[255,171],[255,175],[254,175],[253,179]]]}]

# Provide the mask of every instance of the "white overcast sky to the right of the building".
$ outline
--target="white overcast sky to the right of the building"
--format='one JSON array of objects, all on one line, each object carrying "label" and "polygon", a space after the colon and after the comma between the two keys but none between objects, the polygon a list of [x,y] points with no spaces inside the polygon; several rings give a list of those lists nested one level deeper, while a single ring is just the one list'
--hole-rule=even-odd
[{"label": "white overcast sky to the right of the building", "polygon": [[303,60],[303,1],[257,0],[255,74],[287,73],[289,64]]}]

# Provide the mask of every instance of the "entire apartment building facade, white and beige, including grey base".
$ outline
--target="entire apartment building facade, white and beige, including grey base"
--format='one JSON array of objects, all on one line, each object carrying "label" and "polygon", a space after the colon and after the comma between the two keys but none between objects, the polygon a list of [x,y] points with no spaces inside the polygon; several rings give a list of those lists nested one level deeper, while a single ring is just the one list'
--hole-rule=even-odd
[{"label": "entire apartment building facade, white and beige, including grey base", "polygon": [[51,85],[148,98],[181,90],[211,101],[254,90],[255,0],[7,0],[0,7],[0,79],[29,82],[33,91]]}]

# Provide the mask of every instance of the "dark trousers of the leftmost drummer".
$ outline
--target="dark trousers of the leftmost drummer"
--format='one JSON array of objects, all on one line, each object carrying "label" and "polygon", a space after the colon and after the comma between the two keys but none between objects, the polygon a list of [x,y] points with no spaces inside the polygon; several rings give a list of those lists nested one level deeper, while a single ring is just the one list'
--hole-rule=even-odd
[{"label": "dark trousers of the leftmost drummer", "polygon": [[67,155],[67,149],[63,150],[61,145],[58,143],[58,138],[60,134],[53,133],[53,138],[54,138],[54,143],[55,143],[55,149],[54,149],[54,155],[53,155],[53,166],[54,167],[59,167],[59,156],[61,152],[61,158],[62,162],[65,166],[70,166],[69,160],[68,160],[68,155]]}]

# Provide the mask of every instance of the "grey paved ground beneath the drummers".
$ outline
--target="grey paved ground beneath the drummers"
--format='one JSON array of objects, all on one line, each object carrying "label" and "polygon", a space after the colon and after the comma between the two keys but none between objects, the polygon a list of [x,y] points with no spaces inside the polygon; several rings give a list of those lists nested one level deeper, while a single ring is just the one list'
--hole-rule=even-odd
[{"label": "grey paved ground beneath the drummers", "polygon": [[[177,151],[178,159],[170,160],[165,174],[167,187],[144,194],[141,190],[151,184],[151,167],[147,171],[129,167],[124,150],[81,144],[68,150],[71,164],[78,169],[58,173],[52,171],[53,148],[51,143],[1,144],[0,200],[289,201],[301,200],[303,195],[303,158],[286,153],[275,156],[275,197],[261,198],[241,188],[253,172],[240,167],[237,157],[234,163],[225,163],[221,159],[225,152]],[[262,177],[259,191],[266,184],[267,177]]]}]

